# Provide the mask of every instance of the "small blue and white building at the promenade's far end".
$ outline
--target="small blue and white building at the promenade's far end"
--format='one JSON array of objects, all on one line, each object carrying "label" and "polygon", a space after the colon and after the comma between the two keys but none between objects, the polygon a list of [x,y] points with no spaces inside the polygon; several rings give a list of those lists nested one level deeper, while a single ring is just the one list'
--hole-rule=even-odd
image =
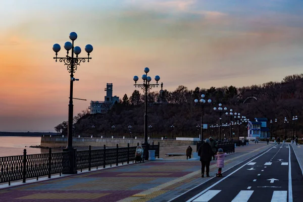
[{"label": "small blue and white building at the promenade's far end", "polygon": [[247,124],[248,137],[270,137],[267,121],[267,118],[255,118],[255,121],[249,121]]}]

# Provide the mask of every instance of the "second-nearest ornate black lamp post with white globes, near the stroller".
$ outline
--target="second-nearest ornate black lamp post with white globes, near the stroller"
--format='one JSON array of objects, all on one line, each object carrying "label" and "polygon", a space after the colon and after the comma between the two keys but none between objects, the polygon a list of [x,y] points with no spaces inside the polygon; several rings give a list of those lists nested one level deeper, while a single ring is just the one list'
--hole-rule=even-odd
[{"label": "second-nearest ornate black lamp post with white globes, near the stroller", "polygon": [[147,129],[148,129],[148,124],[147,124],[147,94],[149,93],[149,90],[153,87],[158,87],[158,81],[160,80],[160,76],[155,76],[155,81],[156,84],[150,84],[149,82],[151,81],[151,77],[147,76],[147,73],[149,72],[149,68],[145,67],[144,68],[145,74],[142,75],[142,80],[143,84],[137,84],[137,81],[139,78],[137,76],[134,76],[133,80],[135,81],[134,86],[135,87],[140,87],[145,95],[145,112],[144,112],[144,143],[142,145],[145,145],[144,153],[145,153],[145,160],[148,160],[148,150],[149,150],[149,144],[147,141]]}]

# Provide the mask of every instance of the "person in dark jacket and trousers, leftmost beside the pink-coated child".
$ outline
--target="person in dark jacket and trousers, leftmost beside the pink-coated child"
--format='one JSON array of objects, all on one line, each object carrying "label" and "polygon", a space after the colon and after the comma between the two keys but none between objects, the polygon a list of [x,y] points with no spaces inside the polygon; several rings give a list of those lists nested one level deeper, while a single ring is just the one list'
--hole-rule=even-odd
[{"label": "person in dark jacket and trousers, leftmost beside the pink-coated child", "polygon": [[212,156],[214,152],[210,145],[210,140],[206,139],[205,142],[198,149],[198,156],[200,156],[201,162],[201,177],[204,177],[204,169],[206,167],[206,176],[210,176],[210,164],[212,161]]}]

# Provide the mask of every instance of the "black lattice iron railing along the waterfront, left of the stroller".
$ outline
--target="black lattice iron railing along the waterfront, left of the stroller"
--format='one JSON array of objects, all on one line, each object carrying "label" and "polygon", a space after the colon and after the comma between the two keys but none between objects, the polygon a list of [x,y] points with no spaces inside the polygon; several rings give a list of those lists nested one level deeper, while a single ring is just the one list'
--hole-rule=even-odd
[{"label": "black lattice iron railing along the waterfront, left of the stroller", "polygon": [[[158,145],[151,144],[149,150],[156,150],[156,156],[159,158],[160,143]],[[91,149],[76,151],[77,170],[103,167],[106,165],[118,166],[119,163],[129,163],[135,159],[136,146]],[[26,149],[21,156],[0,157],[0,183],[15,180],[26,182],[27,178],[37,178],[40,176],[48,176],[52,174],[63,173],[68,171],[70,167],[69,151],[52,153],[49,148],[48,154],[27,155]]]}]

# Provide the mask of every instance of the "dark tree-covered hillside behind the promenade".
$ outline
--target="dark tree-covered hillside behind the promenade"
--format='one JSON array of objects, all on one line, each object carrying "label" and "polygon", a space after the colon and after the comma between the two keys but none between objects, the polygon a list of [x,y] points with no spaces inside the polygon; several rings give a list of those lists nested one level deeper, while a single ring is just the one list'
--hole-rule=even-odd
[{"label": "dark tree-covered hillside behind the promenade", "polygon": [[[246,116],[247,119],[268,118],[277,119],[277,123],[269,123],[272,133],[277,128],[278,136],[284,136],[285,126],[288,136],[293,131],[293,124],[297,124],[298,134],[302,133],[302,96],[303,74],[286,76],[281,82],[267,82],[262,85],[243,87],[223,86],[209,89],[196,87],[189,90],[180,85],[174,91],[161,90],[148,93],[148,135],[152,137],[196,137],[199,134],[198,124],[201,123],[201,107],[194,103],[205,94],[204,123],[218,124],[219,114],[213,108],[221,103],[226,107]],[[81,136],[115,135],[115,136],[143,136],[145,97],[139,90],[134,90],[128,97],[124,94],[119,103],[116,103],[105,114],[89,114],[84,110],[74,118],[73,133]],[[230,117],[222,113],[221,123],[229,123]],[[297,123],[292,117],[297,116]],[[288,123],[284,123],[284,119]],[[234,119],[232,121],[237,121]],[[55,127],[55,130],[67,134],[67,122]],[[276,125],[275,125],[276,124]],[[130,127],[131,126],[131,127]],[[173,126],[173,127],[172,127]],[[296,127],[294,127],[296,128]],[[224,128],[223,128],[224,129]],[[244,127],[239,127],[241,135]],[[227,131],[227,129],[225,129]],[[238,127],[233,127],[237,134]],[[216,136],[218,131],[213,128],[205,130],[205,135]],[[223,134],[221,132],[221,134]],[[228,134],[229,135],[229,134]]]}]

